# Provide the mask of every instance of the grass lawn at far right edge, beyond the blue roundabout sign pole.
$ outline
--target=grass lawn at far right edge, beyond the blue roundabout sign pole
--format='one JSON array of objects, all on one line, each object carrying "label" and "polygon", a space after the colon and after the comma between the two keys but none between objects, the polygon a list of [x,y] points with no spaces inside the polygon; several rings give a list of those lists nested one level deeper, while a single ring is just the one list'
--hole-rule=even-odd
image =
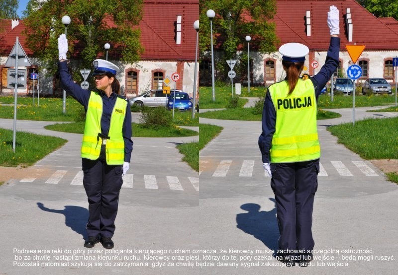
[{"label": "grass lawn at far right edge, beyond the blue roundabout sign pole", "polygon": [[[364,159],[398,159],[398,118],[365,119],[327,128],[338,142]],[[398,183],[398,175],[388,173]]]}]

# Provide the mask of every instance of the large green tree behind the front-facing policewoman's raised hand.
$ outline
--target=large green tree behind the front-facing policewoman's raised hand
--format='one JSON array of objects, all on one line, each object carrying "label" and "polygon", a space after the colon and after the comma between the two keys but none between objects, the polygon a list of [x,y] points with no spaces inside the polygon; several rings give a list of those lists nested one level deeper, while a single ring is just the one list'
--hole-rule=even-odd
[{"label": "large green tree behind the front-facing policewoman's raised hand", "polygon": [[142,0],[30,0],[24,13],[27,45],[44,62],[43,67],[54,73],[58,36],[65,33],[61,18],[68,15],[68,55],[83,61],[80,69],[91,68],[93,60],[103,57],[105,43],[111,44],[112,56],[134,63],[142,52],[140,30],[135,27],[142,5]]}]

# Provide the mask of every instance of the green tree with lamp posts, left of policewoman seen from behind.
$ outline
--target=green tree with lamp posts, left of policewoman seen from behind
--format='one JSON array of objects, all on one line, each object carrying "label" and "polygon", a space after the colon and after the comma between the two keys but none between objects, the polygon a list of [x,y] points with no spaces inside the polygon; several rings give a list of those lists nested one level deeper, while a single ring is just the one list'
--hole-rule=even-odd
[{"label": "green tree with lamp posts, left of policewoman seen from behind", "polygon": [[[276,0],[199,1],[199,48],[202,53],[210,51],[210,20],[206,15],[208,9],[215,11],[212,20],[213,45],[217,45],[217,51],[223,53],[216,66],[216,70],[222,75],[226,75],[225,71],[229,70],[225,60],[243,61],[245,57],[247,59],[247,35],[252,38],[250,48],[256,49],[257,52],[267,53],[276,50],[278,38],[275,34],[275,24],[270,22],[276,13]],[[239,56],[239,50],[243,50],[243,56]],[[247,61],[241,62],[240,66],[245,64]]]}]

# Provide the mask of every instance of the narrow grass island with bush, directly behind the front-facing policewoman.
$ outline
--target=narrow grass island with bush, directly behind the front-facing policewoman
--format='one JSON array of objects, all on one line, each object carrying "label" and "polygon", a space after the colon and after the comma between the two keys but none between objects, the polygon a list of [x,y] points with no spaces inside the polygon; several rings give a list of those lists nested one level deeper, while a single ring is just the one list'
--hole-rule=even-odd
[{"label": "narrow grass island with bush, directly behind the front-facing policewoman", "polygon": [[[45,127],[47,130],[66,132],[66,133],[84,133],[84,122],[72,122],[72,123],[58,123],[54,125],[48,125]],[[161,127],[158,129],[144,128],[140,124],[132,124],[133,138],[170,138],[170,137],[191,137],[197,136],[199,133],[196,131],[183,129],[178,126],[174,127]]]}]

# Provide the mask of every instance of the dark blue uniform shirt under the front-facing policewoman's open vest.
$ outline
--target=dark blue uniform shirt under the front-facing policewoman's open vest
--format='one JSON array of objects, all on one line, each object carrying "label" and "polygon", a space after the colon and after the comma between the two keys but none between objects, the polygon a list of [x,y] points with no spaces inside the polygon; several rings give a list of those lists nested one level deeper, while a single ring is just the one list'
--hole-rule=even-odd
[{"label": "dark blue uniform shirt under the front-facing policewoman's open vest", "polygon": [[[87,107],[89,105],[89,98],[91,89],[82,89],[80,85],[76,84],[72,80],[72,76],[69,73],[68,66],[66,62],[58,62],[58,68],[61,78],[62,88],[71,94],[71,96],[76,99],[80,104],[83,105],[84,110],[87,112]],[[109,124],[110,124],[110,116],[113,111],[113,107],[116,103],[116,98],[120,97],[125,99],[122,96],[119,96],[115,93],[111,93],[109,97],[104,92],[100,92],[100,96],[102,98],[102,117],[101,117],[101,134],[107,136],[109,133]],[[130,112],[130,104],[127,102],[126,107],[126,115],[124,117],[123,122],[123,139],[124,139],[124,161],[130,162],[131,159],[131,151],[133,150],[133,141],[131,140],[132,136],[131,130],[131,112]]]}]

